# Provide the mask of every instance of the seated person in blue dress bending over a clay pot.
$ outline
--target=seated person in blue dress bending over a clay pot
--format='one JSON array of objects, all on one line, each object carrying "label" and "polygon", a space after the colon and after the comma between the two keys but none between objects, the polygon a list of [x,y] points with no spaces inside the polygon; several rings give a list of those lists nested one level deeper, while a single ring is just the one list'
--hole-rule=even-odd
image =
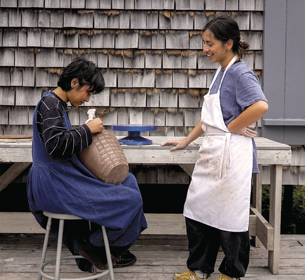
[{"label": "seated person in blue dress bending over a clay pot", "polygon": [[[78,259],[81,270],[92,271],[107,265],[101,226],[108,233],[114,267],[132,265],[136,257],[128,250],[146,227],[142,198],[132,174],[121,184],[98,180],[79,161],[78,153],[92,143],[92,133],[103,122],[93,119],[72,129],[67,103],[74,108],[100,93],[104,78],[93,62],[78,57],[63,69],[58,87],[47,91],[33,117],[33,165],[28,174],[27,197],[36,220],[46,228],[43,211],[73,214],[84,220],[65,222],[64,244]],[[89,231],[88,222],[92,221]],[[52,222],[51,233],[58,234]]]}]

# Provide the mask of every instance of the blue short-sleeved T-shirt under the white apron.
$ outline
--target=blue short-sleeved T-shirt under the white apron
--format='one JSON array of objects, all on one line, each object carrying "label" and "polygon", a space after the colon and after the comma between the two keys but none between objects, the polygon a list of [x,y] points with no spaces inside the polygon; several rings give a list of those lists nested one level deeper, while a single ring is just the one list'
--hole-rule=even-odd
[{"label": "blue short-sleeved T-shirt under the white apron", "polygon": [[[210,94],[216,94],[225,69],[220,70]],[[214,73],[215,75],[215,73]],[[213,76],[214,77],[214,76]],[[236,119],[243,110],[259,100],[267,101],[259,84],[258,77],[244,62],[233,64],[226,72],[220,88],[220,106],[227,126]],[[253,173],[258,173],[257,152],[254,139],[253,143]]]}]

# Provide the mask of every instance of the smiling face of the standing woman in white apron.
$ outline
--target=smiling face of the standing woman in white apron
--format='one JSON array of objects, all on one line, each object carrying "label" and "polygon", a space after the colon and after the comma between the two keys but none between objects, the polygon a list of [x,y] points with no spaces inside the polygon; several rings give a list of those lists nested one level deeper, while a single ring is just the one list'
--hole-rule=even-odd
[{"label": "smiling face of the standing woman in white apron", "polygon": [[209,29],[203,33],[204,47],[203,51],[211,62],[219,62],[224,69],[227,67],[231,59],[234,57],[232,51],[232,40],[226,43],[215,38],[214,34]]}]

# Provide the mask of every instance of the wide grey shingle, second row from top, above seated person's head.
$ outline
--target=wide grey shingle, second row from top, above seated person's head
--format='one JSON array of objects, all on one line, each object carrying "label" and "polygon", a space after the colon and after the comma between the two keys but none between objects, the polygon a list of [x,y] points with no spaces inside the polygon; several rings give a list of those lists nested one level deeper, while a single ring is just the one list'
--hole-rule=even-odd
[{"label": "wide grey shingle, second row from top, above seated person's head", "polygon": [[65,12],[64,27],[93,28],[93,11]]}]

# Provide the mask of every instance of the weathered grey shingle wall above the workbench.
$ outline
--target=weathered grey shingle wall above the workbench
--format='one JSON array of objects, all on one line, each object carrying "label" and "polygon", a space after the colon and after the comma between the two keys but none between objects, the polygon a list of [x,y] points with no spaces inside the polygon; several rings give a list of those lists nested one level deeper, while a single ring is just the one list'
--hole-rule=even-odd
[{"label": "weathered grey shingle wall above the workbench", "polygon": [[35,105],[82,55],[106,88],[70,110],[72,125],[96,108],[106,128],[155,124],[151,135],[187,135],[216,69],[202,51],[209,14],[236,19],[250,43],[245,62],[261,75],[263,0],[0,0],[0,7],[0,134],[31,134]]}]

